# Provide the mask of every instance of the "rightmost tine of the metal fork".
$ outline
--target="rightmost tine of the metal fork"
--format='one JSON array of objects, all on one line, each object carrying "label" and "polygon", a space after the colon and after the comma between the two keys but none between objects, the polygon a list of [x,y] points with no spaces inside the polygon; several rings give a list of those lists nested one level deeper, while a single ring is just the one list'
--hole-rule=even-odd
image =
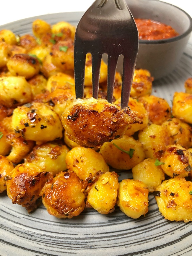
[{"label": "rightmost tine of the metal fork", "polygon": [[[136,62],[136,61],[135,61]],[[130,58],[124,56],[123,58],[123,73],[122,73],[122,87],[121,87],[121,109],[127,108],[129,96],[131,92],[131,85],[133,81],[133,70],[135,69],[135,62],[130,62]]]}]

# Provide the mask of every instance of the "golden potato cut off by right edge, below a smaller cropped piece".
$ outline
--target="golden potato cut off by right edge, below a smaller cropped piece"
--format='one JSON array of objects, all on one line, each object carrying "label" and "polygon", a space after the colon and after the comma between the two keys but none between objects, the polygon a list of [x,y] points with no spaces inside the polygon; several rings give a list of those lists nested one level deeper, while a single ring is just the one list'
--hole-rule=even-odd
[{"label": "golden potato cut off by right edge, below a smaller cropped piece", "polygon": [[175,92],[173,95],[172,114],[182,121],[192,124],[192,95]]}]

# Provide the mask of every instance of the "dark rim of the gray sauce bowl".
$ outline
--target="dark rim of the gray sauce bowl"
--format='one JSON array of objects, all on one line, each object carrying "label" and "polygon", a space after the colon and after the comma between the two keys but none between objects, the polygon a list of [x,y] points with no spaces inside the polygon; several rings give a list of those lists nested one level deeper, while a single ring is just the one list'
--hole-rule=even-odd
[{"label": "dark rim of the gray sauce bowl", "polygon": [[[170,4],[170,3],[167,3],[167,2],[163,2],[163,1],[160,1],[160,0],[147,0],[147,1],[154,1],[154,2],[160,2],[161,4],[168,4],[170,6],[173,6],[177,9],[179,9],[180,11],[182,11],[184,14],[186,14],[186,16],[188,17],[189,19],[189,27],[188,29],[186,30],[186,32],[178,35],[178,36],[175,36],[175,37],[172,37],[172,38],[167,38],[167,39],[159,39],[159,40],[143,40],[143,39],[139,39],[139,44],[162,44],[162,43],[171,43],[171,42],[175,42],[175,41],[178,41],[184,37],[186,37],[188,34],[191,33],[192,31],[192,18],[191,16],[186,12],[184,11],[183,9],[173,5],[173,4]],[[128,1],[127,1],[128,2]]]}]

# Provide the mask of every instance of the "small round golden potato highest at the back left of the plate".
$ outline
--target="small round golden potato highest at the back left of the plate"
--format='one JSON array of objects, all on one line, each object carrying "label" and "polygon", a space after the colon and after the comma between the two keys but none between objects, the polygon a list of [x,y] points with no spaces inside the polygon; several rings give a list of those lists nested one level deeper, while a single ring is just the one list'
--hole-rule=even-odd
[{"label": "small round golden potato highest at the back left of the plate", "polygon": [[35,37],[42,38],[46,33],[51,33],[51,25],[45,20],[37,19],[32,22],[32,31]]}]

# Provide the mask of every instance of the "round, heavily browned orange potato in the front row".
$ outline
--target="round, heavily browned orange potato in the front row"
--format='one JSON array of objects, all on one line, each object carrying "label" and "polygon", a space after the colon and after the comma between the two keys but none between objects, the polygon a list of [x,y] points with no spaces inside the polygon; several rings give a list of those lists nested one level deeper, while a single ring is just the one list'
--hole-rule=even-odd
[{"label": "round, heavily browned orange potato in the front row", "polygon": [[49,214],[57,218],[72,218],[85,207],[84,182],[71,171],[50,178],[40,195]]}]

